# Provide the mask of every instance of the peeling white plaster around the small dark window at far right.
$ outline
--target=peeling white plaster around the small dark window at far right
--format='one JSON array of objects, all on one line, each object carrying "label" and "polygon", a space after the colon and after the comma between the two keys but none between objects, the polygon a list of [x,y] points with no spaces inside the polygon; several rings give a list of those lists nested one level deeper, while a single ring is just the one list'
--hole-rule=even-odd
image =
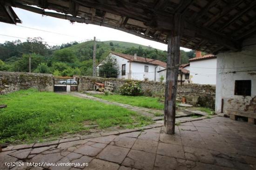
[{"label": "peeling white plaster around the small dark window at far right", "polygon": [[[249,102],[256,96],[256,46],[247,47],[242,52],[225,52],[217,54],[217,79],[216,79],[216,113],[221,112],[222,98],[225,103],[227,99],[234,98],[236,101]],[[254,52],[252,52],[252,51]],[[254,67],[251,67],[254,66]],[[236,67],[236,68],[234,68]],[[240,67],[240,68],[237,68]],[[243,68],[241,68],[243,67]],[[251,97],[234,95],[235,80],[251,80]]]}]

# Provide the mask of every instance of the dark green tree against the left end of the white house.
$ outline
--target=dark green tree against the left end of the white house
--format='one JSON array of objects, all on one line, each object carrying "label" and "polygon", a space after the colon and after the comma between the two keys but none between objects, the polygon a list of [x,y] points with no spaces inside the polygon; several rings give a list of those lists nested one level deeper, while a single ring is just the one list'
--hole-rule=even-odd
[{"label": "dark green tree against the left end of the white house", "polygon": [[116,78],[118,75],[118,66],[116,59],[111,55],[102,62],[102,65],[99,68],[100,77],[106,78]]}]

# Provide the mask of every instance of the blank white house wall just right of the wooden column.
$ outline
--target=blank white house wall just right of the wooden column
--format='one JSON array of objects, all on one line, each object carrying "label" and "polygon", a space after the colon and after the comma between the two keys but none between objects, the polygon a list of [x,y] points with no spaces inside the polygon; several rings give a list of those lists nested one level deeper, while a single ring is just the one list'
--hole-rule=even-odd
[{"label": "blank white house wall just right of the wooden column", "polygon": [[[216,85],[217,59],[204,59],[190,62],[191,83],[201,85]],[[188,70],[186,67],[185,69]]]}]

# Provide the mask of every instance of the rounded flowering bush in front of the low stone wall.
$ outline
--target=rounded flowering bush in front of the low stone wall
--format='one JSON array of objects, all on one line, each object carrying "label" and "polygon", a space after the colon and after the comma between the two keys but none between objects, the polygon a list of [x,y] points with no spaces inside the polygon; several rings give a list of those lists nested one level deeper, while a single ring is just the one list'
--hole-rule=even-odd
[{"label": "rounded flowering bush in front of the low stone wall", "polygon": [[139,82],[127,82],[120,87],[120,93],[127,96],[140,96],[142,94]]}]

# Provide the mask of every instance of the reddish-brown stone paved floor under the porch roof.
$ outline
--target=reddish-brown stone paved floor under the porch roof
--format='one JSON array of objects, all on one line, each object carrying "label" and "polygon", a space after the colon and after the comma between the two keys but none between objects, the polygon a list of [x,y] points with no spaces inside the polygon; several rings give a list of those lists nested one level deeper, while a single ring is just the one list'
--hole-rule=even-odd
[{"label": "reddish-brown stone paved floor under the porch roof", "polygon": [[[17,148],[17,147],[16,147]],[[8,167],[5,162],[24,162]],[[0,152],[0,170],[256,170],[256,125],[216,117],[183,123],[175,135],[162,127],[120,135]]]}]

